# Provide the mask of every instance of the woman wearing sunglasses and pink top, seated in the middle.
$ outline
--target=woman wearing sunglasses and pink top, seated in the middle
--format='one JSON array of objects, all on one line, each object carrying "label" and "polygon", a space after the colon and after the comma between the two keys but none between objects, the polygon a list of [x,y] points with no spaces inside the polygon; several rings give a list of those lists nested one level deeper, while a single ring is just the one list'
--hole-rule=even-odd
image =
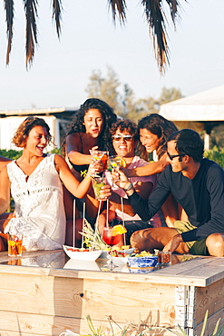
[{"label": "woman wearing sunglasses and pink top, seated in the middle", "polygon": [[[135,149],[139,143],[138,140],[138,127],[137,124],[128,119],[122,119],[112,124],[112,146],[114,152],[126,163],[127,170],[136,169],[147,164],[146,161],[135,155]],[[99,217],[99,231],[102,233],[103,227],[106,225],[108,216],[109,222],[122,222],[124,221],[127,228],[127,243],[131,237],[131,233],[141,230],[142,228],[161,226],[159,214],[155,215],[151,222],[143,222],[139,215],[137,215],[128,200],[126,193],[113,183],[110,172],[105,172],[107,183],[112,187],[112,196],[109,200],[109,213],[104,209]],[[156,176],[144,177],[130,177],[130,182],[134,186],[137,193],[141,198],[147,199],[156,184]],[[123,242],[120,242],[122,245]]]}]

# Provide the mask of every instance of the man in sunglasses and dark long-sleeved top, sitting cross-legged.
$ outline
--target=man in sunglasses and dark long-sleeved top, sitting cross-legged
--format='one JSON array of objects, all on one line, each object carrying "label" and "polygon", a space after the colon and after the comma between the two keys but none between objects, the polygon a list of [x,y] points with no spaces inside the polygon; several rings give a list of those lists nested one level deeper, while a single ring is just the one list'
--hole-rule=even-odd
[{"label": "man in sunglasses and dark long-sleeved top, sitting cross-legged", "polygon": [[158,179],[147,201],[134,192],[121,171],[120,186],[132,208],[147,221],[169,194],[187,212],[189,222],[174,222],[174,228],[145,229],[131,235],[131,245],[140,251],[164,251],[224,256],[224,172],[203,158],[200,135],[190,129],[173,133],[167,142],[170,165]]}]

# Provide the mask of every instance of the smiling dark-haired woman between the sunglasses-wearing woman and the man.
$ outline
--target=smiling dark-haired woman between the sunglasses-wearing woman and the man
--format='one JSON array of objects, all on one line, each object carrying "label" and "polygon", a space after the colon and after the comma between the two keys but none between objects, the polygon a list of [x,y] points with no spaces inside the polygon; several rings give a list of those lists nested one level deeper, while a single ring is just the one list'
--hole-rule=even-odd
[{"label": "smiling dark-haired woman between the sunglasses-wearing woman and the man", "polygon": [[[148,161],[149,153],[156,153],[157,162],[148,163],[143,167],[124,170],[127,176],[145,176],[154,173],[161,173],[169,164],[167,161],[166,143],[169,136],[177,132],[174,123],[160,114],[150,114],[143,117],[138,124],[140,135],[140,156]],[[177,219],[186,219],[181,207],[174,203],[172,195],[161,207],[161,212],[168,226],[172,226]]]}]

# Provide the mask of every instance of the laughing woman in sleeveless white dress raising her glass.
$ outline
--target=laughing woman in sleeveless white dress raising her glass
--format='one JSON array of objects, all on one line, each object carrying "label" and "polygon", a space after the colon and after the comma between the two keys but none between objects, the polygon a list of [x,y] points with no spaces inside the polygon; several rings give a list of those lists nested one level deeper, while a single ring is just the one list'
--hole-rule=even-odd
[{"label": "laughing woman in sleeveless white dress raising her glass", "polygon": [[13,143],[24,149],[23,153],[8,163],[0,175],[0,213],[8,208],[11,195],[15,200],[15,217],[0,223],[0,231],[4,231],[1,235],[7,238],[7,232],[23,233],[26,251],[62,248],[66,227],[62,182],[79,198],[91,186],[92,164],[80,183],[62,156],[44,153],[51,140],[44,119],[26,118],[13,138]]}]

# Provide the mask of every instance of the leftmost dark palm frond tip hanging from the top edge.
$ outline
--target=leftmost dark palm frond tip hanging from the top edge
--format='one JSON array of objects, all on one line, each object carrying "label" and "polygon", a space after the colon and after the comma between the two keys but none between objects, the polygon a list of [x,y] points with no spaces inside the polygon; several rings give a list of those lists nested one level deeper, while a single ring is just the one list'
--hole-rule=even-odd
[{"label": "leftmost dark palm frond tip hanging from the top edge", "polygon": [[14,24],[14,0],[5,0],[5,21],[7,25],[7,52],[6,52],[6,64],[9,64],[9,55],[11,53],[12,41],[13,41],[13,24]]}]

